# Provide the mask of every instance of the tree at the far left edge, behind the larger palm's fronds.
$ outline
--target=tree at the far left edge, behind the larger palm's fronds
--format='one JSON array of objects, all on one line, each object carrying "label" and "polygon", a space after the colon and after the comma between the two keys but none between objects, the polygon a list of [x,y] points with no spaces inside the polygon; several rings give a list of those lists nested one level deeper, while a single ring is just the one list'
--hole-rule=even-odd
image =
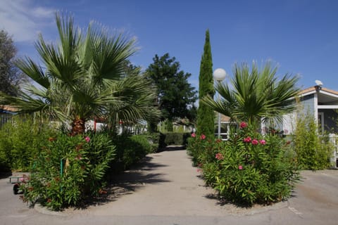
[{"label": "tree at the far left edge, behind the larger palm's fronds", "polygon": [[13,64],[16,48],[13,39],[4,30],[0,31],[0,94],[17,94],[22,74]]}]

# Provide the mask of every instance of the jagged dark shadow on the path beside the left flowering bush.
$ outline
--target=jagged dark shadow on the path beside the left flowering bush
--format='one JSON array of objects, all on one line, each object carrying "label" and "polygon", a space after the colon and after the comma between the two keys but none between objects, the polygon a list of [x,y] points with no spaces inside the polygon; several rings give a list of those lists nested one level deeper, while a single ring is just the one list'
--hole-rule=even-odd
[{"label": "jagged dark shadow on the path beside the left flowering bush", "polygon": [[165,174],[151,172],[158,167],[167,167],[167,165],[152,162],[153,159],[151,156],[146,156],[134,167],[120,174],[111,174],[108,176],[106,188],[101,190],[99,197],[85,202],[77,209],[83,210],[93,205],[105,205],[118,200],[123,195],[130,195],[139,189],[146,188],[148,184],[170,182],[170,180],[163,178]]}]

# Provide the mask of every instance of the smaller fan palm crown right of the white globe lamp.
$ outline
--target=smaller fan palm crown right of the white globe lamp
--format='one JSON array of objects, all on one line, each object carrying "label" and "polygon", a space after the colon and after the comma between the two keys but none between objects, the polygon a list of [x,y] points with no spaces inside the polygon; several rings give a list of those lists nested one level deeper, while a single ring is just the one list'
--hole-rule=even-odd
[{"label": "smaller fan palm crown right of the white globe lamp", "polygon": [[281,120],[282,115],[291,113],[296,105],[293,98],[299,93],[296,88],[298,77],[284,75],[277,80],[277,67],[266,63],[263,70],[258,70],[255,63],[251,72],[245,63],[234,65],[234,77],[230,85],[218,83],[215,90],[222,98],[214,101],[211,96],[201,99],[218,113],[234,121],[247,121],[258,125],[264,120]]}]

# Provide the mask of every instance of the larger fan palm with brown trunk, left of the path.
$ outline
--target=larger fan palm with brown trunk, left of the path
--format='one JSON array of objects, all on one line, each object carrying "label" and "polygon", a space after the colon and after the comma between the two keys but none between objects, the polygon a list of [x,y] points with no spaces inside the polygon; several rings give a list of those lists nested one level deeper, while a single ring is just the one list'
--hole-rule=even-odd
[{"label": "larger fan palm with brown trunk, left of the path", "polygon": [[125,62],[136,51],[134,40],[122,34],[108,37],[92,23],[83,35],[67,15],[56,14],[56,25],[58,45],[47,44],[41,34],[35,44],[44,68],[30,58],[16,63],[39,86],[26,84],[18,97],[7,100],[21,113],[42,112],[71,122],[72,135],[82,134],[86,120],[107,116],[111,108],[130,105],[120,113],[124,120],[146,117],[144,108],[134,103],[143,98],[146,105],[155,98],[154,87],[136,76],[125,78]]}]

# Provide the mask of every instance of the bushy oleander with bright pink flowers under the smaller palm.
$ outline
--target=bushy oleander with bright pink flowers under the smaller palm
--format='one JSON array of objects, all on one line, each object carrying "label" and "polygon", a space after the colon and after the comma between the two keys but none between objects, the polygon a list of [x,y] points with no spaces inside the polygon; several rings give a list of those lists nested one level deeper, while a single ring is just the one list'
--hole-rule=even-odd
[{"label": "bushy oleander with bright pink flowers under the smaller palm", "polygon": [[188,153],[206,184],[238,205],[270,204],[289,197],[299,179],[294,153],[277,135],[242,127],[228,141],[189,139]]}]

